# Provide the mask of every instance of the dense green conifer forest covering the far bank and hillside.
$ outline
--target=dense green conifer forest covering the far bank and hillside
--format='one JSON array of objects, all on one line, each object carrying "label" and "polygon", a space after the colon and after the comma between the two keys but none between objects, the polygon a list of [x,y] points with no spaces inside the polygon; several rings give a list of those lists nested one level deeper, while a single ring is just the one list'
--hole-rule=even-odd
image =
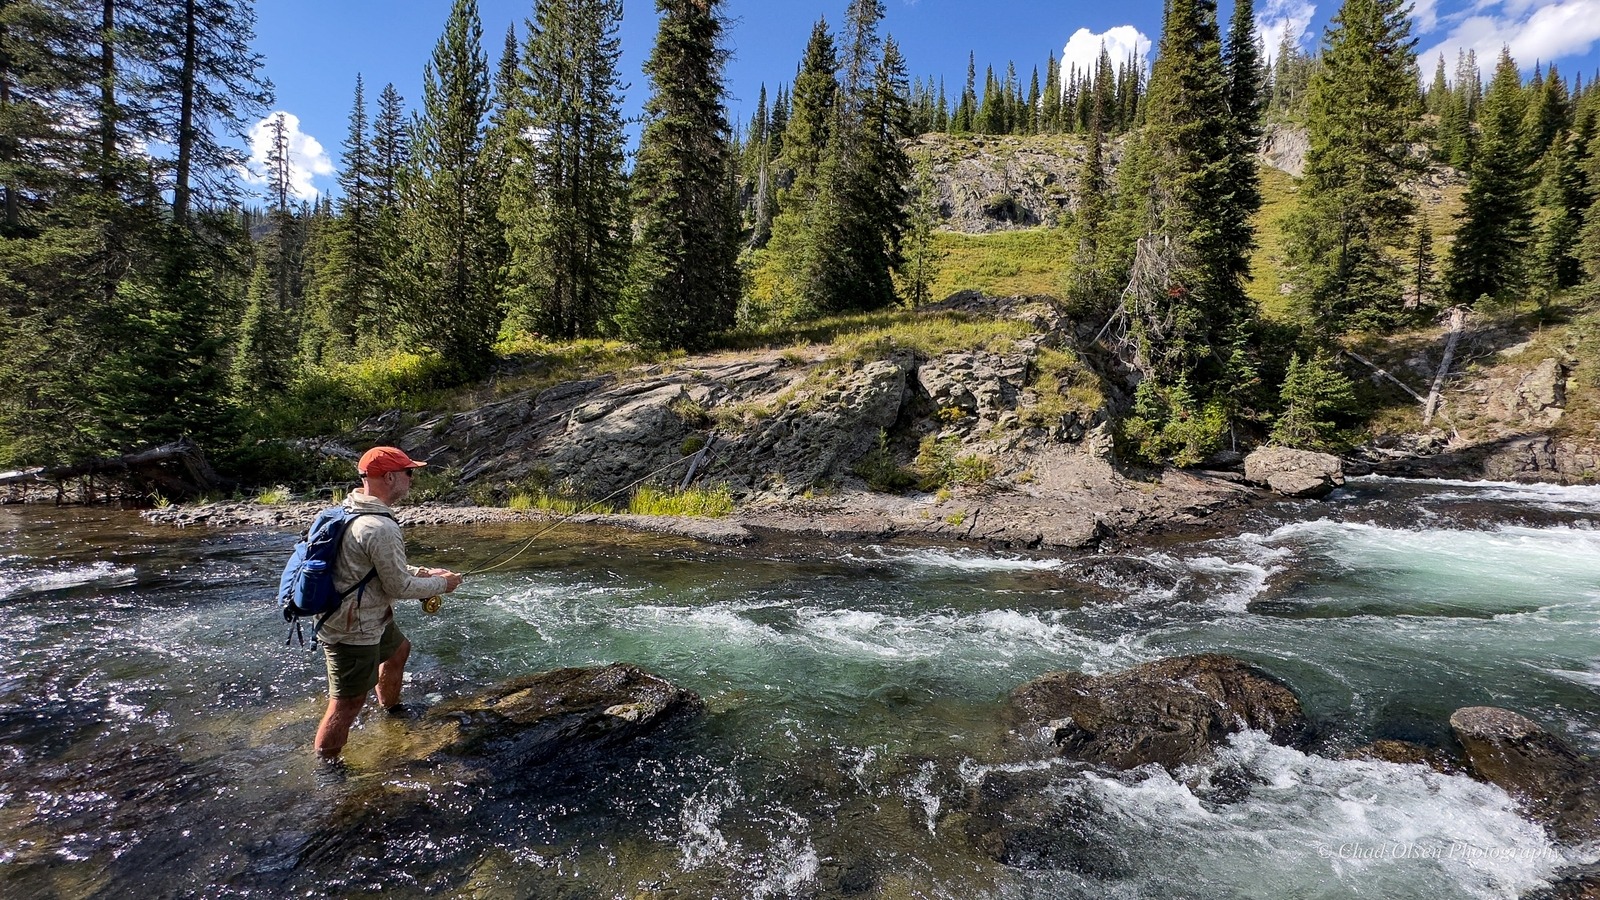
[{"label": "dense green conifer forest covering the far bank and hillside", "polygon": [[[1346,0],[1270,64],[1248,3],[1171,0],[1154,66],[970,58],[963,85],[914,77],[882,0],[853,0],[749,122],[720,2],[656,10],[632,155],[619,0],[533,0],[498,46],[454,0],[422,96],[350,85],[339,197],[306,203],[282,115],[264,200],[235,178],[272,99],[250,0],[0,2],[0,464],[189,437],[298,479],[315,466],[280,439],[517,360],[938,301],[928,133],[1082,146],[1053,293],[1131,373],[1120,444],[1152,463],[1333,447],[1362,415],[1341,341],[1448,307],[1554,320],[1600,290],[1594,78],[1418,59],[1400,0]],[[1309,143],[1270,312],[1250,291],[1267,127]],[[1466,179],[1453,239],[1411,191],[1430,167]]]}]

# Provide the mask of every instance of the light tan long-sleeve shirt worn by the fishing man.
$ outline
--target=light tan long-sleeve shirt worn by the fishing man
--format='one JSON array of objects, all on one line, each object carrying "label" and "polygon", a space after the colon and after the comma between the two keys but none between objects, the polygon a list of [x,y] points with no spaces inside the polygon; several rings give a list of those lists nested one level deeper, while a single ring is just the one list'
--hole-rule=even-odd
[{"label": "light tan long-sleeve shirt worn by the fishing man", "polygon": [[[358,516],[344,532],[339,544],[339,560],[333,569],[333,585],[344,591],[378,570],[378,575],[360,591],[350,591],[328,621],[317,629],[323,644],[378,644],[384,626],[394,618],[394,602],[432,597],[445,593],[448,585],[442,575],[418,575],[418,567],[406,564],[405,538],[394,509],[370,493],[354,490],[344,498],[350,512],[378,512]],[[357,599],[357,593],[360,599]]]}]

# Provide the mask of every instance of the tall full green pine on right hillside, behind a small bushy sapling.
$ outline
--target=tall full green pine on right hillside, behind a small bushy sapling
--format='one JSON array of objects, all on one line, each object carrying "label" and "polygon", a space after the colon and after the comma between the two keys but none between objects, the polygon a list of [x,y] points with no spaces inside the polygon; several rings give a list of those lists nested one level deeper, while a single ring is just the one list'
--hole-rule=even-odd
[{"label": "tall full green pine on right hillside, behind a small bushy sapling", "polygon": [[1310,151],[1288,224],[1298,296],[1323,328],[1400,309],[1389,247],[1410,231],[1411,21],[1403,0],[1346,0],[1309,94]]}]

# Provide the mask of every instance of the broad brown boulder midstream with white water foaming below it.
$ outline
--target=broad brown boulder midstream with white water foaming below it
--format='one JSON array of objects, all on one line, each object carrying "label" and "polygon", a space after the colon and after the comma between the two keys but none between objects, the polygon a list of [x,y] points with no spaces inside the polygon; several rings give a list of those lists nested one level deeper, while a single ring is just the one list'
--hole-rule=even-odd
[{"label": "broad brown boulder midstream with white water foaming below it", "polygon": [[1043,727],[1062,756],[1112,769],[1205,762],[1245,729],[1299,745],[1310,722],[1286,685],[1219,653],[1174,657],[1107,676],[1050,673],[1011,693],[1024,725]]}]

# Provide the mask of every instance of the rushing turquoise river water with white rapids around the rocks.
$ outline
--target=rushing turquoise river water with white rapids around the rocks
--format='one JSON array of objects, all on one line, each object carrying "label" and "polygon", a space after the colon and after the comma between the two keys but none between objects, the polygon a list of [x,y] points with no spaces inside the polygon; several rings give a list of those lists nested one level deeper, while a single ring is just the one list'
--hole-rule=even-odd
[{"label": "rushing turquoise river water with white rapids around the rocks", "polygon": [[[438,617],[402,609],[408,698],[629,661],[707,713],[499,786],[392,775],[405,725],[371,719],[350,781],[317,788],[320,663],[267,599],[293,535],[5,508],[0,892],[1517,897],[1600,847],[1552,844],[1496,788],[1342,754],[1446,745],[1480,703],[1600,753],[1597,517],[1595,488],[1358,480],[1086,557],[563,528]],[[520,536],[408,535],[459,567]],[[1301,695],[1309,753],[1246,733],[1179,778],[1110,777],[1006,738],[1027,679],[1211,650]],[[1008,820],[1042,836],[1019,865],[976,825],[1006,778],[1029,785]]]}]

